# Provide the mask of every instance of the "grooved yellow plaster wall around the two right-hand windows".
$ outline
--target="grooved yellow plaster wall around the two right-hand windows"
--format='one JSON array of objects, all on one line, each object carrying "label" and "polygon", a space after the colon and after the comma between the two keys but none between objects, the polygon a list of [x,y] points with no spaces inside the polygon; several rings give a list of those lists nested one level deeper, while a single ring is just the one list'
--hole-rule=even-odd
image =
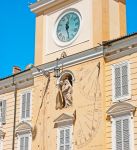
[{"label": "grooved yellow plaster wall around the two right-hand windows", "polygon": [[[132,104],[137,107],[137,53],[127,55],[120,59],[116,59],[114,61],[110,61],[105,64],[105,101],[106,107],[105,111],[107,111],[114,103],[112,102],[112,65],[118,64],[124,61],[129,61],[130,63],[130,78],[131,78],[131,98],[126,102]],[[135,112],[133,117],[134,122],[134,149],[137,147],[137,113]],[[112,123],[111,121],[106,121],[106,150],[112,149]]]}]

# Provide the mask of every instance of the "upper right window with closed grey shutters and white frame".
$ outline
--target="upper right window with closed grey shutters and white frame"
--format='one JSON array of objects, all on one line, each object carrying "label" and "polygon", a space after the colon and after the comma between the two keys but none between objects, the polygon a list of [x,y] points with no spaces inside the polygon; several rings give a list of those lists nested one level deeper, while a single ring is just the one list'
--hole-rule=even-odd
[{"label": "upper right window with closed grey shutters and white frame", "polygon": [[124,100],[130,96],[129,63],[113,66],[113,100]]}]

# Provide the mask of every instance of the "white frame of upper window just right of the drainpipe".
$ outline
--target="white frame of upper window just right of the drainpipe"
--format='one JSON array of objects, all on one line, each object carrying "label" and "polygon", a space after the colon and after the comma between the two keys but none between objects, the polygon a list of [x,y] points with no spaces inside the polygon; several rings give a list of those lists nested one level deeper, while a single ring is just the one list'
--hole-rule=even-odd
[{"label": "white frame of upper window just right of the drainpipe", "polygon": [[[30,93],[30,116],[22,118],[22,96],[24,94],[27,94],[27,93]],[[26,112],[25,112],[25,115],[26,115]],[[26,91],[21,93],[21,97],[20,97],[20,122],[22,122],[22,121],[30,121],[31,117],[32,117],[32,90],[26,90]]]}]

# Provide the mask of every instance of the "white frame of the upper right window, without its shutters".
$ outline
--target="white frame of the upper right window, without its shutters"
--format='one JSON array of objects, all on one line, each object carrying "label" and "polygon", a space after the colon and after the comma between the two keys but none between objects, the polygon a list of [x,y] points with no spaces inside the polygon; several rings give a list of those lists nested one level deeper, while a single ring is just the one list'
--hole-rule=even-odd
[{"label": "white frame of the upper right window, without its shutters", "polygon": [[[127,65],[128,68],[128,95],[126,96],[120,96],[118,98],[115,97],[115,68],[117,67],[122,67],[123,65]],[[113,102],[118,102],[118,101],[126,101],[131,98],[131,71],[130,71],[130,62],[129,61],[124,61],[120,62],[117,64],[112,65],[112,101]]]}]

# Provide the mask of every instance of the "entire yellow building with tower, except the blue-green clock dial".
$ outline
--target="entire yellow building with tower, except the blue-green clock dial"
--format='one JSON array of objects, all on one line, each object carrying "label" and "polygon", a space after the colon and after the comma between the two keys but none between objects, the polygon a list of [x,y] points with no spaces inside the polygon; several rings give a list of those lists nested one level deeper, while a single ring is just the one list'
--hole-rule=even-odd
[{"label": "entire yellow building with tower, except the blue-green clock dial", "polygon": [[[0,149],[135,150],[137,35],[124,36],[125,1],[40,0],[30,9],[35,65],[0,80]],[[82,25],[62,46],[53,28],[72,10]]]}]

